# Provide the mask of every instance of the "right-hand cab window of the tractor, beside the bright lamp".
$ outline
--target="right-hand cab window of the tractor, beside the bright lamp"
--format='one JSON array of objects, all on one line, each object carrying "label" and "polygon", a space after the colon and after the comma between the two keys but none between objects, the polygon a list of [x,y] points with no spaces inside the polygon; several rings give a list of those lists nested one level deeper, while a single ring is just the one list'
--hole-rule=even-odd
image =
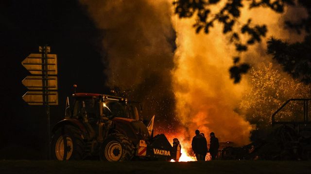
[{"label": "right-hand cab window of the tractor, beside the bright lamp", "polygon": [[128,114],[125,113],[125,106],[120,102],[109,102],[103,109],[105,116],[128,117]]}]

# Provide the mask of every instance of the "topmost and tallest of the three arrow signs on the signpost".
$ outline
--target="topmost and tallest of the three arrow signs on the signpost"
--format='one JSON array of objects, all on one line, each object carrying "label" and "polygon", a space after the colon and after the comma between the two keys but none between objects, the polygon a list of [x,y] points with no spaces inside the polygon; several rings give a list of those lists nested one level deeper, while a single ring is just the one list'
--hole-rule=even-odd
[{"label": "topmost and tallest of the three arrow signs on the signpost", "polygon": [[[42,55],[30,54],[21,64],[32,74],[42,74]],[[57,75],[57,56],[48,54],[48,74]]]}]

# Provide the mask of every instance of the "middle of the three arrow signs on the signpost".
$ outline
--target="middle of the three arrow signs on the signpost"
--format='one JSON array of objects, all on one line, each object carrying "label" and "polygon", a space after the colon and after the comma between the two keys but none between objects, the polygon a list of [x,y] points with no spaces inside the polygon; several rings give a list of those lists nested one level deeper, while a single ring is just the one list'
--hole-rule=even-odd
[{"label": "middle of the three arrow signs on the signpost", "polygon": [[[21,81],[21,83],[30,90],[43,90],[42,80],[42,76],[28,75],[23,81]],[[56,76],[48,77],[47,88],[49,90],[57,90]]]}]

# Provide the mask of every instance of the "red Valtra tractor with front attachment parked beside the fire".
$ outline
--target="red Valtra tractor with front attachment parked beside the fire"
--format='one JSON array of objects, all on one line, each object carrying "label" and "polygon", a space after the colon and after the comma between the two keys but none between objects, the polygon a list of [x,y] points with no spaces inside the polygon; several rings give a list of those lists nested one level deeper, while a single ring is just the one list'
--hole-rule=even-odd
[{"label": "red Valtra tractor with front attachment parked beside the fire", "polygon": [[65,119],[52,130],[53,159],[179,160],[178,140],[174,139],[172,146],[164,134],[153,136],[154,117],[146,126],[138,102],[104,94],[72,96],[73,107],[67,98]]}]

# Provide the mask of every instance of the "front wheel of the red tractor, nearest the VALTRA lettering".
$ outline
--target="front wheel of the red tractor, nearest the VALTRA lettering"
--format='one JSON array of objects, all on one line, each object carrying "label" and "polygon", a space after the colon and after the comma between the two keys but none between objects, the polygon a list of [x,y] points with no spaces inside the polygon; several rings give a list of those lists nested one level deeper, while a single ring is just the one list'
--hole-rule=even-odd
[{"label": "front wheel of the red tractor, nearest the VALTRA lettering", "polygon": [[100,159],[110,162],[129,161],[134,157],[134,145],[121,133],[109,135],[103,142]]}]

